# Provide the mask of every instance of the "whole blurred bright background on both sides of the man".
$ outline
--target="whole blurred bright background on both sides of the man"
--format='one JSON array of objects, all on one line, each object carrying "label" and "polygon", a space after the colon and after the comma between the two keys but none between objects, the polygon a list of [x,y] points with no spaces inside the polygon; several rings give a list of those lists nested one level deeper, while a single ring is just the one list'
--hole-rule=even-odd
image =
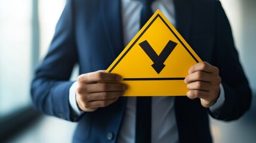
[{"label": "whole blurred bright background on both sides of the man", "polygon": [[[239,120],[211,119],[214,142],[256,142],[256,1],[221,0],[253,91]],[[66,0],[0,0],[0,142],[71,142],[76,123],[33,110],[30,82],[46,54]],[[77,68],[73,79],[78,75]]]}]

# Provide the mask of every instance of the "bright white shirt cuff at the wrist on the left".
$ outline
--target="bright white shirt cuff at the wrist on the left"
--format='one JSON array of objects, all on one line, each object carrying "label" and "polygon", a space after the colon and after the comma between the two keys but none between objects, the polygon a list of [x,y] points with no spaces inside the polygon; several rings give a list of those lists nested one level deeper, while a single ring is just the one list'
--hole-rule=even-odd
[{"label": "bright white shirt cuff at the wrist on the left", "polygon": [[69,88],[69,104],[71,106],[72,116],[80,116],[83,111],[80,111],[76,103],[76,86],[78,82],[74,82]]}]

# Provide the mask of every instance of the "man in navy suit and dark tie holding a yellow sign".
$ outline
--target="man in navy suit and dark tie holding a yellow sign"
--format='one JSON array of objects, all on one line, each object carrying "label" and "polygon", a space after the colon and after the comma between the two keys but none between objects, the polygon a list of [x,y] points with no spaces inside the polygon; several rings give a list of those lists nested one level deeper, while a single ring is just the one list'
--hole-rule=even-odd
[{"label": "man in navy suit and dark tie holding a yellow sign", "polygon": [[[184,79],[187,96],[122,97],[128,86],[104,70],[157,9],[203,62]],[[69,81],[75,64],[80,76]],[[212,142],[208,114],[235,120],[251,104],[229,21],[215,0],[67,0],[31,92],[38,110],[78,122],[73,142]]]}]

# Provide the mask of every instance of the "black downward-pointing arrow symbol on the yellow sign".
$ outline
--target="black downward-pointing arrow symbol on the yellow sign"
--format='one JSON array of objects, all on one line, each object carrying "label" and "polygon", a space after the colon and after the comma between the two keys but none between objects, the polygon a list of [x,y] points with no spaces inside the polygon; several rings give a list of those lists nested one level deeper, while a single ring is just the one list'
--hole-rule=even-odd
[{"label": "black downward-pointing arrow symbol on the yellow sign", "polygon": [[159,55],[156,54],[155,50],[149,45],[149,42],[143,41],[139,43],[139,45],[153,61],[154,64],[152,64],[152,67],[159,74],[165,67],[165,60],[169,57],[177,43],[169,41]]}]

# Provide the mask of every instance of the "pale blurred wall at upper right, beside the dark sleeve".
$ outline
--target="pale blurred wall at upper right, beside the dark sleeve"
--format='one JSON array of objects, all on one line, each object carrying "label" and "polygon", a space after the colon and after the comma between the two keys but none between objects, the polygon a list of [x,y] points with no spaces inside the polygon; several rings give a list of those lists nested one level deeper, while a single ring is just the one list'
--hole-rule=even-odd
[{"label": "pale blurred wall at upper right, beside the dark sleeve", "polygon": [[254,95],[256,95],[256,1],[221,0],[235,38],[236,48]]}]

